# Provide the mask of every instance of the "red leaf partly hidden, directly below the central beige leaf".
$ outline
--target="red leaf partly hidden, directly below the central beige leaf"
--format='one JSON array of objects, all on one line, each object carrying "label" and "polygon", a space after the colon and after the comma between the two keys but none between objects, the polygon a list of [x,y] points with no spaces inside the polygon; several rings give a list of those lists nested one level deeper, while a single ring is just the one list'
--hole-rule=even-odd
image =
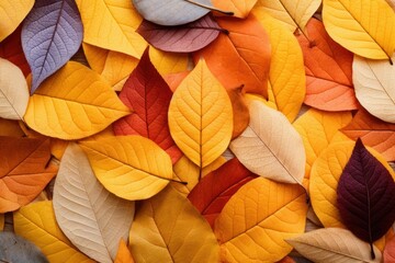
[{"label": "red leaf partly hidden, directly below the central beige leaf", "polygon": [[257,176],[234,158],[204,176],[188,198],[214,228],[214,221],[228,199]]}]

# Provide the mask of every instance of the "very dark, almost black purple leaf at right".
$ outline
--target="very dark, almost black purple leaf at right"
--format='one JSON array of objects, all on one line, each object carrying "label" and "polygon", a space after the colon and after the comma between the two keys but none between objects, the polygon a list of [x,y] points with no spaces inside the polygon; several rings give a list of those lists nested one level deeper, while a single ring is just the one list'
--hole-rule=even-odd
[{"label": "very dark, almost black purple leaf at right", "polygon": [[357,140],[340,176],[337,195],[340,217],[358,238],[372,244],[394,224],[394,179],[366,150],[361,139]]}]

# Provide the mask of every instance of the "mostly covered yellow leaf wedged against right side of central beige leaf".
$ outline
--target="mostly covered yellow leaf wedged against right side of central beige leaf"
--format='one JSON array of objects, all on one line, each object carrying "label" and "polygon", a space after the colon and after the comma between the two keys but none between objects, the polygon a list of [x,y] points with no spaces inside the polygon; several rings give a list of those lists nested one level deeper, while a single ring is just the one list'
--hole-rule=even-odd
[{"label": "mostly covered yellow leaf wedged against right side of central beige leaf", "polygon": [[301,135],[306,151],[306,178],[309,178],[312,165],[319,153],[351,118],[350,112],[331,113],[311,108],[295,121],[293,126]]}]

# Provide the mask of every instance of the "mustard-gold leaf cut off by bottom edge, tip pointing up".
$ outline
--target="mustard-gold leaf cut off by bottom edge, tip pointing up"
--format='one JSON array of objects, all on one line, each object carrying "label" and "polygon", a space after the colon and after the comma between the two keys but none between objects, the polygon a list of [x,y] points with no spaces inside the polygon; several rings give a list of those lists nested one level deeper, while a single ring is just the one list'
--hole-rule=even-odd
[{"label": "mustard-gold leaf cut off by bottom edge, tip pointing up", "polygon": [[218,262],[219,247],[204,218],[168,186],[136,213],[129,248],[138,262]]}]

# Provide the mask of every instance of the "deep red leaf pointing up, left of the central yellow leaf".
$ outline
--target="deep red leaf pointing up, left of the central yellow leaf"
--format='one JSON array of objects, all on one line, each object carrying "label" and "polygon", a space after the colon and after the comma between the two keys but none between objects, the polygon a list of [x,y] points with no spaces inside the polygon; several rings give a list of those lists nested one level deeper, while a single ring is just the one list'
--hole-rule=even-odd
[{"label": "deep red leaf pointing up, left of the central yellow leaf", "polygon": [[168,110],[172,92],[149,60],[148,48],[120,93],[134,112],[113,124],[115,135],[140,135],[154,140],[177,162],[182,152],[170,136]]}]

